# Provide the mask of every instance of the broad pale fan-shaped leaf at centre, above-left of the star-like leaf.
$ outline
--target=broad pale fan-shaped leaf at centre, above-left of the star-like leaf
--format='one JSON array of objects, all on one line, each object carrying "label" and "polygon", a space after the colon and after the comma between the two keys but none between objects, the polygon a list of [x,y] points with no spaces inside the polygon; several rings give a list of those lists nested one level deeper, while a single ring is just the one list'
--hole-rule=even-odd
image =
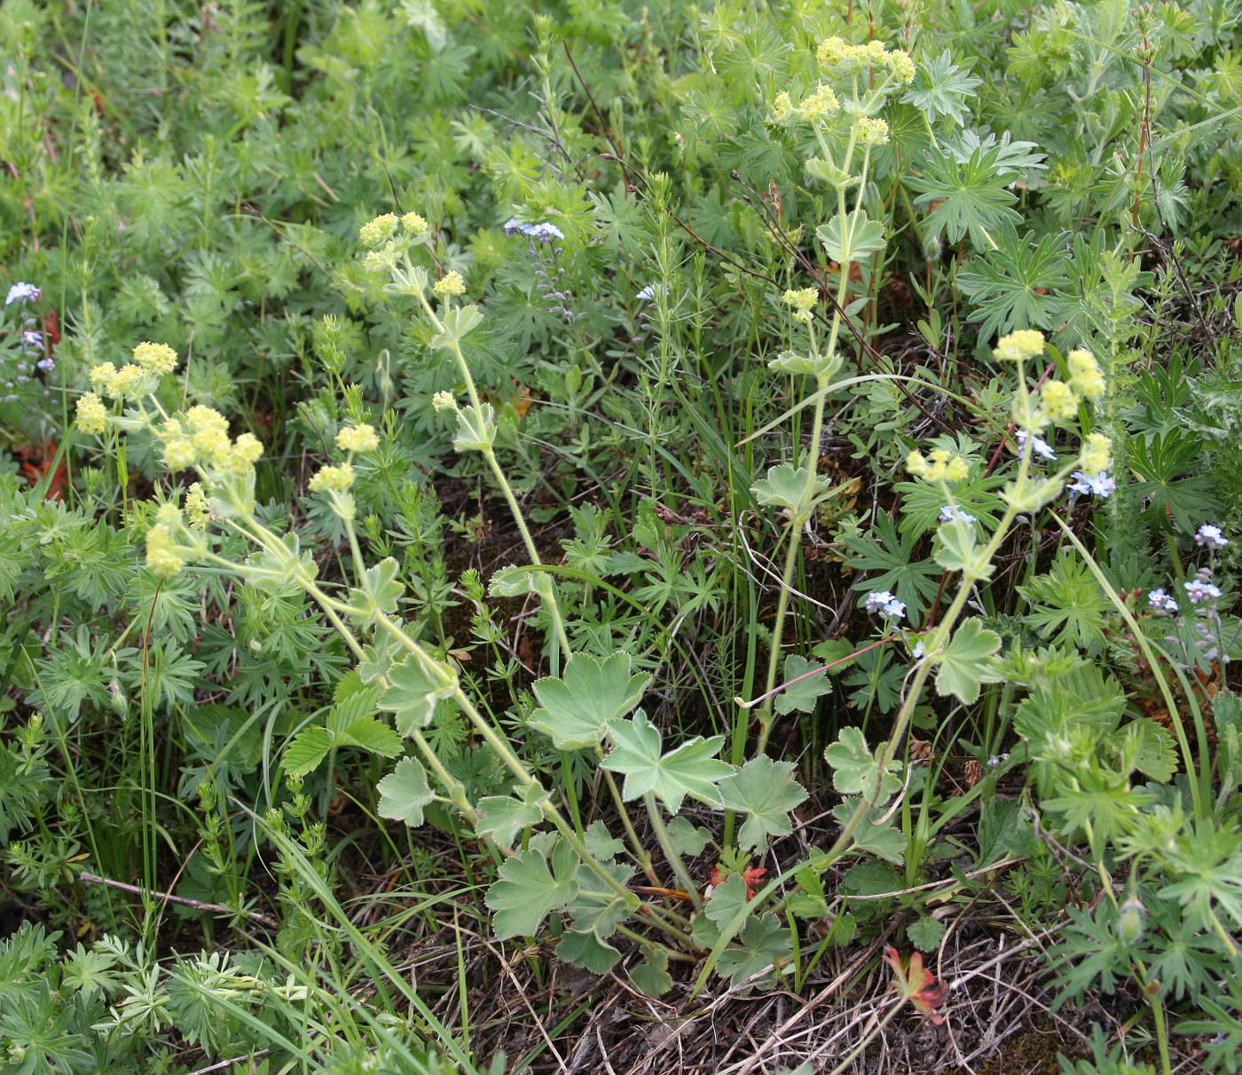
[{"label": "broad pale fan-shaped leaf at centre, above-left of the star-like leaf", "polygon": [[596,747],[609,721],[638,705],[650,680],[630,674],[628,654],[616,652],[602,661],[590,654],[574,654],[563,679],[535,681],[542,707],[530,715],[530,727],[551,737],[561,751]]}]

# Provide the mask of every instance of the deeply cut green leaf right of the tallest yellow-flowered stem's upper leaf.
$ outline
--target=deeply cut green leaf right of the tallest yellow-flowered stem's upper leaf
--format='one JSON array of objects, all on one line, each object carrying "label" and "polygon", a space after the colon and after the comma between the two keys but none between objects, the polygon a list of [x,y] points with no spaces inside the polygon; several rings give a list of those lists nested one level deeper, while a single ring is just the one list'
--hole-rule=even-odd
[{"label": "deeply cut green leaf right of the tallest yellow-flowered stem's upper leaf", "polygon": [[944,235],[958,242],[969,234],[976,250],[987,250],[990,234],[1021,221],[1013,210],[1017,196],[1007,189],[1015,173],[1000,160],[996,145],[980,145],[965,160],[946,145],[928,150],[923,175],[905,178],[918,191],[914,204],[934,206],[924,222],[924,239]]}]

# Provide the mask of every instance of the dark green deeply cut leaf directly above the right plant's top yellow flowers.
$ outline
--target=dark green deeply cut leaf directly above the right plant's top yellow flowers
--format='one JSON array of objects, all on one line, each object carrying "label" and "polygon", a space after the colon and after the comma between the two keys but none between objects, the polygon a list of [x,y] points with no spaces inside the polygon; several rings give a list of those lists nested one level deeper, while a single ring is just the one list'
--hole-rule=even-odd
[{"label": "dark green deeply cut leaf directly above the right plant's top yellow flowers", "polygon": [[992,236],[999,247],[972,258],[958,273],[958,286],[971,298],[968,321],[980,326],[982,339],[1013,328],[1051,328],[1066,303],[1054,291],[1066,283],[1066,241],[1046,235],[1032,245],[1012,229]]}]

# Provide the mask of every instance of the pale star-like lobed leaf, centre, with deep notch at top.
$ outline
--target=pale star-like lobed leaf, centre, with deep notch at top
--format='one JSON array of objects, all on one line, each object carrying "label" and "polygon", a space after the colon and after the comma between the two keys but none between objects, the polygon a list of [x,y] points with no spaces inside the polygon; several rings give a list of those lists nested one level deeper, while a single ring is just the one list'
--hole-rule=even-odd
[{"label": "pale star-like lobed leaf, centre, with deep notch at top", "polygon": [[625,775],[625,799],[636,799],[651,792],[673,814],[681,809],[687,795],[709,807],[720,805],[717,784],[733,772],[733,766],[715,757],[724,746],[723,736],[709,739],[696,736],[661,754],[660,730],[642,710],[628,721],[612,721],[609,736],[614,747],[601,764]]}]

